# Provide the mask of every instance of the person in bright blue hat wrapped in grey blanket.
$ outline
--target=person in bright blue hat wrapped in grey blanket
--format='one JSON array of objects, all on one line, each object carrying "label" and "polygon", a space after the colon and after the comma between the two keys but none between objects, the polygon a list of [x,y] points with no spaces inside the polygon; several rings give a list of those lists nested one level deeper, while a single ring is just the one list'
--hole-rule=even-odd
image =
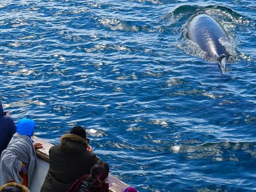
[{"label": "person in bright blue hat wrapped in grey blanket", "polygon": [[31,139],[36,124],[31,119],[21,119],[17,123],[17,133],[1,154],[0,185],[16,182],[26,187],[34,176],[37,165],[35,148],[41,148],[41,143]]}]

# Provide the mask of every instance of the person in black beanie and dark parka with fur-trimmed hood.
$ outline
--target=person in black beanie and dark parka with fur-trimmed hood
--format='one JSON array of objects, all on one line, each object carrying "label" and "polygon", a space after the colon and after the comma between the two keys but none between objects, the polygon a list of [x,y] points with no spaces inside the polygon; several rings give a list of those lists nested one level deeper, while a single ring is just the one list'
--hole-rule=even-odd
[{"label": "person in black beanie and dark parka with fur-trimmed hood", "polygon": [[62,135],[60,143],[49,150],[49,170],[41,192],[66,192],[80,177],[100,161],[86,141],[86,131],[75,126]]}]

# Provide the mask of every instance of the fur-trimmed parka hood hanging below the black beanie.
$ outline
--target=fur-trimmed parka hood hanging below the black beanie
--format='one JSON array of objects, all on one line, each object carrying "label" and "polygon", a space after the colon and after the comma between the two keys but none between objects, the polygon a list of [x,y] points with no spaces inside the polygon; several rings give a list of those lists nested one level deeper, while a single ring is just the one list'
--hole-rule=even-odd
[{"label": "fur-trimmed parka hood hanging below the black beanie", "polygon": [[61,149],[67,153],[81,153],[86,151],[88,143],[85,139],[74,134],[65,134],[60,138]]}]

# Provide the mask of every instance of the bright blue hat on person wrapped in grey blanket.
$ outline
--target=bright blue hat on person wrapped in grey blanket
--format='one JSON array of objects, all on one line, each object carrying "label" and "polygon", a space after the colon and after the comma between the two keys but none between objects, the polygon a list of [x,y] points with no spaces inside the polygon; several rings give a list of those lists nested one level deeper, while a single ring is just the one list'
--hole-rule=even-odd
[{"label": "bright blue hat on person wrapped in grey blanket", "polygon": [[36,123],[32,119],[21,119],[17,123],[17,133],[31,137],[36,128]]}]

